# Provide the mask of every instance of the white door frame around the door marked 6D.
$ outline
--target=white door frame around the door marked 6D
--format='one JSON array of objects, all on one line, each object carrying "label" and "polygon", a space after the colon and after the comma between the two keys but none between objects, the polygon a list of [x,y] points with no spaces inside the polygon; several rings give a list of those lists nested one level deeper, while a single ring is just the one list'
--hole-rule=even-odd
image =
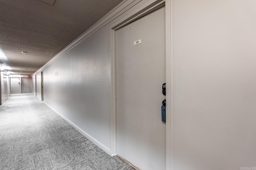
[{"label": "white door frame around the door marked 6D", "polygon": [[[110,153],[112,156],[116,155],[116,35],[115,31],[128,25],[132,21],[138,20],[151,12],[162,8],[165,6],[165,17],[166,17],[166,170],[171,169],[171,91],[172,91],[172,82],[171,82],[171,0],[156,0],[141,6],[137,12],[134,11],[134,14],[129,14],[122,20],[119,20],[110,26],[110,101],[111,101],[111,146]],[[168,90],[169,89],[169,90]],[[169,108],[169,109],[168,109]]]}]

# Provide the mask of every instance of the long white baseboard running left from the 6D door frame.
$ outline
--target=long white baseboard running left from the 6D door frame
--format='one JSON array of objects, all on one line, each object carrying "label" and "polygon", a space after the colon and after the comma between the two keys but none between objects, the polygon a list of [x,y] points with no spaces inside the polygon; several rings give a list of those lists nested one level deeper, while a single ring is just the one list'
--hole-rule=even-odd
[{"label": "long white baseboard running left from the 6D door frame", "polygon": [[64,119],[66,122],[68,122],[70,125],[72,125],[78,132],[80,132],[82,135],[84,135],[87,139],[89,139],[92,143],[94,143],[95,145],[97,145],[98,147],[100,147],[100,149],[104,150],[104,152],[106,152],[107,154],[109,154],[110,156],[112,156],[112,153],[110,152],[110,149],[108,147],[106,147],[105,145],[103,145],[102,143],[100,143],[99,141],[97,141],[94,137],[92,137],[91,135],[89,135],[88,133],[86,133],[85,131],[83,131],[82,129],[80,129],[77,125],[75,125],[72,121],[68,120],[66,117],[64,117],[62,114],[60,114],[58,111],[56,111],[54,108],[52,108],[50,105],[48,105],[46,102],[44,102],[44,104],[46,104],[46,106],[48,106],[50,109],[52,109],[52,111],[54,111],[55,113],[57,113],[62,119]]}]

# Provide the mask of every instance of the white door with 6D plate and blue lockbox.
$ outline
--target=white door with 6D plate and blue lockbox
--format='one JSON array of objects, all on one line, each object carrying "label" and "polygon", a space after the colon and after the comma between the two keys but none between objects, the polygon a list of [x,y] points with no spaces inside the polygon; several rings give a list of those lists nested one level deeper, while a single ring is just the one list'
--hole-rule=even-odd
[{"label": "white door with 6D plate and blue lockbox", "polygon": [[142,170],[166,168],[165,75],[161,8],[116,31],[117,154]]}]

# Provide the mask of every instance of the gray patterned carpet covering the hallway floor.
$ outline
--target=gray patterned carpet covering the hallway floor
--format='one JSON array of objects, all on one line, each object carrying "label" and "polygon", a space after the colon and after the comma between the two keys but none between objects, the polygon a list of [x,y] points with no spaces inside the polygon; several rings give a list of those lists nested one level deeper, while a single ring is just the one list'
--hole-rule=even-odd
[{"label": "gray patterned carpet covering the hallway floor", "polygon": [[0,106],[0,170],[133,170],[81,135],[32,94]]}]

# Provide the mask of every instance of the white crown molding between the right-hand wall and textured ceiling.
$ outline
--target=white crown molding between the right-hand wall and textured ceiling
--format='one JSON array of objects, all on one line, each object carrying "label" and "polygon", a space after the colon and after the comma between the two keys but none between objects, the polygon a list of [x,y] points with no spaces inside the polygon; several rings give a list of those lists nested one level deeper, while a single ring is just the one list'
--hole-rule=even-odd
[{"label": "white crown molding between the right-hand wall and textured ceiling", "polygon": [[132,8],[132,6],[138,4],[142,0],[127,0],[121,2],[118,6],[116,6],[113,10],[108,12],[104,17],[102,17],[99,21],[97,21],[94,25],[92,25],[89,29],[87,29],[84,33],[82,33],[79,37],[77,37],[74,41],[72,41],[68,46],[66,46],[62,51],[60,51],[57,55],[55,55],[52,59],[50,59],[46,64],[44,64],[41,68],[39,68],[36,72],[34,72],[31,76],[37,74],[41,70],[43,70],[50,63],[61,57],[64,53],[69,51],[70,49],[76,47],[80,44],[84,39],[90,37],[96,31],[116,19],[118,16]]}]

